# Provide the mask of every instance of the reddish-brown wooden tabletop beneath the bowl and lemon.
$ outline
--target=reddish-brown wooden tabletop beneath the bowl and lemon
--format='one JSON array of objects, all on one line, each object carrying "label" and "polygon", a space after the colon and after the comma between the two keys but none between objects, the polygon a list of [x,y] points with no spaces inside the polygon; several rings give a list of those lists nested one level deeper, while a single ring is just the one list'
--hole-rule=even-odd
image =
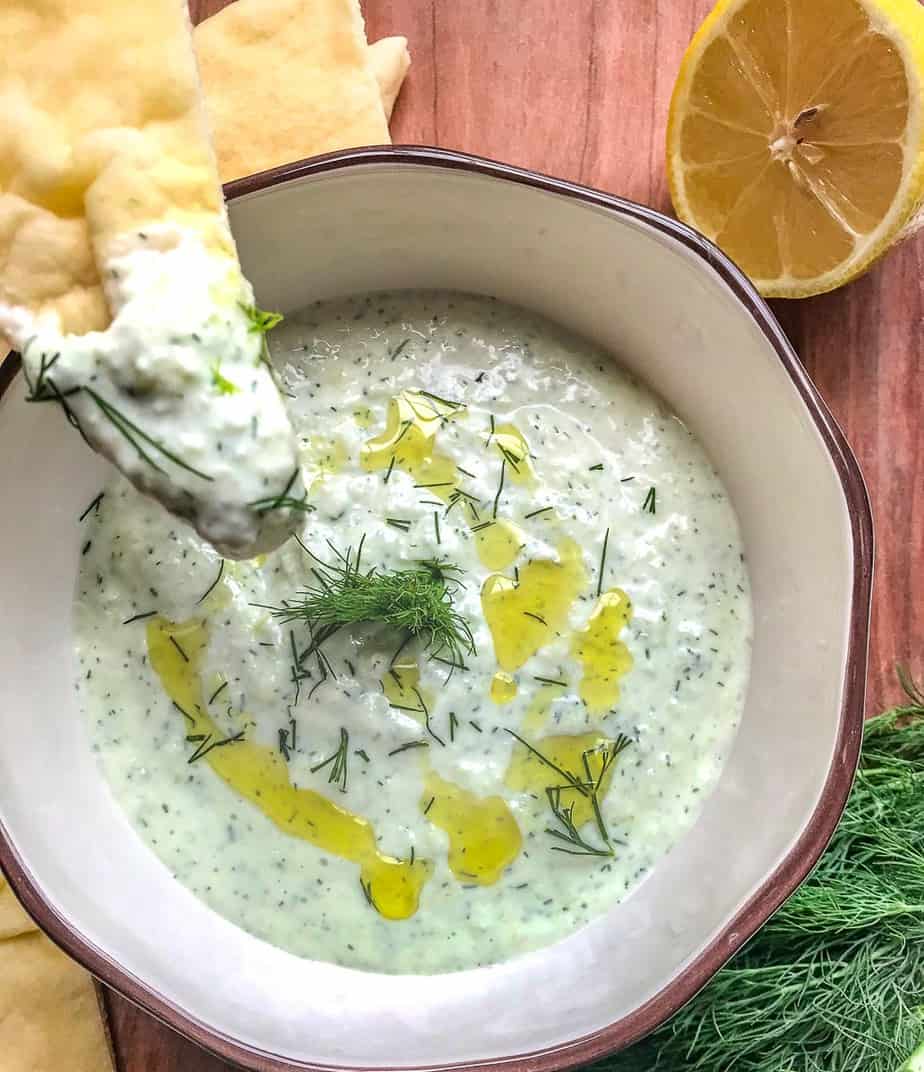
[{"label": "reddish-brown wooden tabletop beneath the bowl and lemon", "polygon": [[[226,0],[191,0],[205,18]],[[465,149],[669,209],[665,121],[712,0],[366,0],[370,40],[414,63],[396,143]],[[835,294],[776,312],[856,451],[876,515],[870,712],[924,673],[924,238]],[[224,1072],[114,994],[120,1072]]]}]

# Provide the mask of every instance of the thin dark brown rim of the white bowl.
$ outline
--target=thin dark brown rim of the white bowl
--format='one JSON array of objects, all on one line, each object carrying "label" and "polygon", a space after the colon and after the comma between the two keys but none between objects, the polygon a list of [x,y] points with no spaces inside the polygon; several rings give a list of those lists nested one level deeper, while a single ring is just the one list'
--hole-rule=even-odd
[{"label": "thin dark brown rim of the white bowl", "polygon": [[[853,593],[848,637],[847,668],[840,724],[834,758],[821,796],[799,840],[783,863],[763,882],[760,890],[716,935],[691,964],[667,986],[635,1012],[591,1034],[547,1049],[501,1057],[496,1060],[457,1062],[429,1066],[433,1070],[465,1069],[471,1072],[554,1072],[596,1060],[622,1049],[654,1030],[681,1006],[697,994],[726,964],[770,915],[806,878],[824,851],[840,819],[860,758],[863,735],[864,693],[866,685],[866,649],[869,631],[869,607],[873,583],[873,516],[860,466],[844,433],[822,401],[815,385],[795,356],[792,346],[763,299],[745,276],[712,242],[689,227],[654,209],[600,193],[587,187],[549,178],[536,172],[498,164],[480,157],[451,152],[426,146],[370,148],[329,153],[298,161],[260,175],[238,179],[225,187],[228,200],[280,185],[293,179],[323,175],[354,167],[401,164],[414,167],[435,167],[489,176],[516,182],[547,193],[570,197],[586,205],[609,209],[616,215],[646,224],[667,235],[704,260],[726,283],[763,332],[776,352],[780,364],[808,410],[824,442],[840,478],[850,515],[853,547]],[[11,358],[0,366],[0,394],[12,383],[19,361]],[[78,961],[106,985],[151,1013],[180,1034],[206,1049],[254,1072],[292,1072],[292,1070],[337,1070],[351,1072],[343,1066],[321,1066],[286,1060],[278,1055],[249,1046],[193,1018],[140,979],[121,968],[107,953],[99,949],[44,899],[36,882],[26,869],[0,823],[0,869],[29,914],[48,937],[65,953]],[[420,1066],[415,1066],[416,1070]],[[392,1072],[388,1069],[364,1069],[363,1072]],[[400,1067],[398,1067],[400,1069]],[[398,1070],[396,1069],[396,1072]],[[403,1072],[403,1070],[402,1070]]]}]

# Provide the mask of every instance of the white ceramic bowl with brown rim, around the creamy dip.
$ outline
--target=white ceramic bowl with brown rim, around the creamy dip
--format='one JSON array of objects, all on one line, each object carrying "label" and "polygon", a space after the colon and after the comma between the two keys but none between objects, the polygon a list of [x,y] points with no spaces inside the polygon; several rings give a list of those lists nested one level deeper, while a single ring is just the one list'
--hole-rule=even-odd
[{"label": "white ceramic bowl with brown rim, around the creamy dip", "polygon": [[[871,521],[856,463],[767,308],[649,209],[437,150],[364,150],[228,189],[260,303],[451,287],[602,344],[710,451],[754,587],[743,725],[701,820],[628,899],[548,949],[437,977],[300,959],[175,882],[109,796],[74,701],[77,516],[105,476],[0,372],[0,861],[48,934],[252,1069],[552,1069],[665,1019],[815,863],[861,735]],[[3,384],[0,383],[0,389]]]}]

